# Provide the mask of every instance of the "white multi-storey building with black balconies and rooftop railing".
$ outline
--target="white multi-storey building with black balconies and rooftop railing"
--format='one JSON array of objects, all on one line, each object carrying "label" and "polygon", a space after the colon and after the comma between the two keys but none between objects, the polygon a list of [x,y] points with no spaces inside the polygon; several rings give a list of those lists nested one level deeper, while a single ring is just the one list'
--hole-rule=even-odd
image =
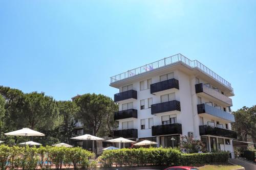
[{"label": "white multi-storey building with black balconies and rooftop railing", "polygon": [[170,138],[178,145],[186,135],[201,139],[209,152],[233,153],[233,89],[199,61],[174,55],[113,76],[110,86],[119,89],[114,137],[147,138],[172,147]]}]

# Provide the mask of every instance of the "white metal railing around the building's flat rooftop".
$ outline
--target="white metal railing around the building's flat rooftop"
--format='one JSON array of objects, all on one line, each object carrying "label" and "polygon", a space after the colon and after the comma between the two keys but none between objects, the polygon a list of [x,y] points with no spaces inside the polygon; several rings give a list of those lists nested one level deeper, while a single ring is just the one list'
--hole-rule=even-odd
[{"label": "white metal railing around the building's flat rooftop", "polygon": [[147,72],[147,71],[151,71],[160,67],[164,67],[166,65],[170,65],[170,64],[175,64],[178,62],[182,62],[183,64],[191,67],[191,68],[198,68],[199,70],[201,70],[202,72],[204,72],[206,75],[210,76],[211,78],[214,78],[215,80],[217,80],[218,82],[220,82],[221,84],[225,85],[226,87],[228,87],[230,90],[233,90],[231,87],[231,84],[226,81],[225,79],[223,79],[222,77],[220,77],[219,75],[217,75],[214,71],[212,71],[211,69],[209,69],[208,67],[206,67],[204,64],[200,63],[197,60],[189,60],[188,58],[186,58],[185,56],[181,55],[181,54],[176,54],[174,56],[170,56],[167,58],[164,58],[162,60],[158,60],[156,62],[150,63],[150,64],[146,64],[143,65],[141,67],[138,68],[134,68],[132,70],[128,70],[126,72],[123,72],[119,75],[113,76],[110,79],[110,83],[114,83],[117,82],[119,80],[123,80],[129,77],[133,77],[135,75],[139,75],[142,74],[143,72]]}]

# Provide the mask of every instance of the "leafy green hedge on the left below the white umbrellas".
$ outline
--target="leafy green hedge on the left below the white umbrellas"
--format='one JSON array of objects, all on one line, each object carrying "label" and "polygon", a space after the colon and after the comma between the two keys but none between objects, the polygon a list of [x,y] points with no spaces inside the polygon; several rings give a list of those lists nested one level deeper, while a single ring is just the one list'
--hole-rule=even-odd
[{"label": "leafy green hedge on the left below the white umbrellas", "polygon": [[[89,168],[95,155],[81,148],[64,147],[8,147],[0,145],[0,169]],[[95,164],[94,162],[92,164]]]}]

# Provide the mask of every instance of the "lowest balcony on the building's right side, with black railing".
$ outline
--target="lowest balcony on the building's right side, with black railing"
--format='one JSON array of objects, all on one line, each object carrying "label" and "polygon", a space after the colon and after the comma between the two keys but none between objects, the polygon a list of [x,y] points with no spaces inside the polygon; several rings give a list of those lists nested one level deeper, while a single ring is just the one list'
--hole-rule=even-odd
[{"label": "lowest balcony on the building's right side, with black railing", "polygon": [[200,135],[220,136],[220,137],[228,137],[228,138],[233,138],[233,139],[237,138],[236,131],[212,127],[212,126],[208,126],[208,125],[199,126],[199,132],[200,132]]}]

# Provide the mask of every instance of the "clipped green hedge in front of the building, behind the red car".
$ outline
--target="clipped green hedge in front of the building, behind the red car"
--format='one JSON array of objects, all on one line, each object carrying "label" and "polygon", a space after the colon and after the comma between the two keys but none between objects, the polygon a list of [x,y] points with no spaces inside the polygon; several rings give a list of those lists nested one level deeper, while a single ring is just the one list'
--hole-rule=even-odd
[{"label": "clipped green hedge in front of the building, behind the red car", "polygon": [[172,166],[227,162],[228,152],[182,154],[172,148],[139,148],[104,151],[98,158],[104,167],[116,166]]}]

